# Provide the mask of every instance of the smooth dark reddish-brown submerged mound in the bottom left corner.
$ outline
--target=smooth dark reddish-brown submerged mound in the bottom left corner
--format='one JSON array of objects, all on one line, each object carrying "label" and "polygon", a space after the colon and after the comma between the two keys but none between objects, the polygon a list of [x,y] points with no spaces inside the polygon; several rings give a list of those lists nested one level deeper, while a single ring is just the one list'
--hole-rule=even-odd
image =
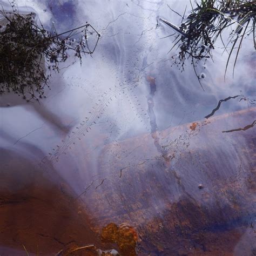
[{"label": "smooth dark reddish-brown submerged mound in the bottom left corner", "polygon": [[53,167],[48,176],[14,151],[2,149],[0,158],[1,255],[23,255],[23,245],[29,253],[56,255],[98,244],[83,206],[73,203],[75,194]]}]

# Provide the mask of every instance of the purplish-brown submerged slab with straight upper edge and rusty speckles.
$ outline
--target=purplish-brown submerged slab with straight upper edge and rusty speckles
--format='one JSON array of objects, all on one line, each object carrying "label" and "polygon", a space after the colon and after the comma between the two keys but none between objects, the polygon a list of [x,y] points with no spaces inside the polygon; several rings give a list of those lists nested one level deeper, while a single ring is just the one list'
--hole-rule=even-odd
[{"label": "purplish-brown submerged slab with straight upper edge and rusty speckles", "polygon": [[170,161],[150,134],[107,145],[100,169],[108,181],[84,198],[97,204],[91,220],[130,223],[139,255],[234,255],[256,216],[256,138],[253,129],[221,131],[250,123],[255,113],[252,107],[157,131]]}]

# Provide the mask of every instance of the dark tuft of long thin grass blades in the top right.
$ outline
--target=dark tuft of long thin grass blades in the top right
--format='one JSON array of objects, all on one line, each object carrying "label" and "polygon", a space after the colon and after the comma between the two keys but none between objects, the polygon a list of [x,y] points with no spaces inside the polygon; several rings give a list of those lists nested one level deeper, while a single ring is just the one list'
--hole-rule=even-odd
[{"label": "dark tuft of long thin grass blades in the top right", "polygon": [[[192,64],[195,66],[201,59],[212,58],[211,51],[214,49],[214,43],[220,38],[227,52],[228,44],[233,43],[230,52],[228,52],[227,70],[230,56],[235,45],[238,44],[235,66],[242,40],[246,34],[253,33],[254,48],[256,49],[255,15],[256,1],[202,0],[200,4],[196,2],[196,8],[192,9],[192,13],[181,24],[180,28],[163,19],[162,21],[178,32],[172,48],[176,45],[179,46],[180,51],[176,62],[183,69],[186,59],[191,58]],[[221,33],[230,28],[232,24],[236,28],[230,33],[229,42],[224,43]],[[200,77],[198,76],[198,78]]]}]

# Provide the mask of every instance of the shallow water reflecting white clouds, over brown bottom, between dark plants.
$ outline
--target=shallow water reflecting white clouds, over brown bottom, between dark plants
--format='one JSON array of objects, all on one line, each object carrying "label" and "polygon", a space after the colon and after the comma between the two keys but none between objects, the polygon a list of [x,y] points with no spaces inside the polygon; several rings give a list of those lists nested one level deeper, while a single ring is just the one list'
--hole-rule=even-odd
[{"label": "shallow water reflecting white clouds, over brown bottom, between dark plants", "polygon": [[[231,65],[224,82],[221,45],[214,63],[198,65],[203,90],[190,63],[184,72],[173,65],[173,38],[163,38],[173,31],[158,18],[181,18],[167,4],[190,9],[189,1],[18,1],[46,27],[87,21],[101,37],[82,66],[69,66],[71,57],[53,75],[40,104],[0,98],[1,255],[91,244],[123,255],[254,255],[251,38],[234,78]],[[102,231],[111,223],[117,231]]]}]

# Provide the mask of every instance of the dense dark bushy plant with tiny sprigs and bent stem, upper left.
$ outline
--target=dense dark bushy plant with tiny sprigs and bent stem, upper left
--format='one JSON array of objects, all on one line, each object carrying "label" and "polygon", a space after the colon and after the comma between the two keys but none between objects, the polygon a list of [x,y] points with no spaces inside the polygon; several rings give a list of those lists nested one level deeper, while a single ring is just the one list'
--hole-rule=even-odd
[{"label": "dense dark bushy plant with tiny sprigs and bent stem, upper left", "polygon": [[[14,91],[24,98],[29,94],[27,100],[42,98],[44,86],[49,87],[51,71],[59,71],[59,63],[66,61],[68,53],[73,51],[82,63],[82,53],[92,54],[99,40],[99,33],[88,23],[58,34],[54,26],[46,31],[42,24],[37,25],[33,13],[0,11],[0,16],[7,23],[0,26],[0,94]],[[87,36],[92,33],[96,33],[97,39],[90,49]]]}]

